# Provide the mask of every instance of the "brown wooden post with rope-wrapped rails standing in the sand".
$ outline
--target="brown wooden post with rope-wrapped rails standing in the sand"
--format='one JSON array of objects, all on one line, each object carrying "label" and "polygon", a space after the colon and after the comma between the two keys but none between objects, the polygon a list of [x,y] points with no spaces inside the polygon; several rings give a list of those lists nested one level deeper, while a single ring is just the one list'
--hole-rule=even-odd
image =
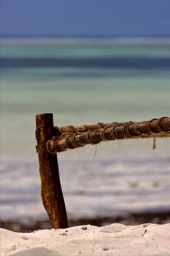
[{"label": "brown wooden post with rope-wrapped rails standing in the sand", "polygon": [[67,228],[68,221],[58,170],[57,152],[80,148],[87,144],[96,145],[103,141],[124,139],[170,137],[170,118],[161,117],[143,122],[112,122],[96,125],[73,125],[58,127],[53,124],[53,115],[36,116],[37,153],[40,166],[41,196],[49,215],[52,228]]}]

